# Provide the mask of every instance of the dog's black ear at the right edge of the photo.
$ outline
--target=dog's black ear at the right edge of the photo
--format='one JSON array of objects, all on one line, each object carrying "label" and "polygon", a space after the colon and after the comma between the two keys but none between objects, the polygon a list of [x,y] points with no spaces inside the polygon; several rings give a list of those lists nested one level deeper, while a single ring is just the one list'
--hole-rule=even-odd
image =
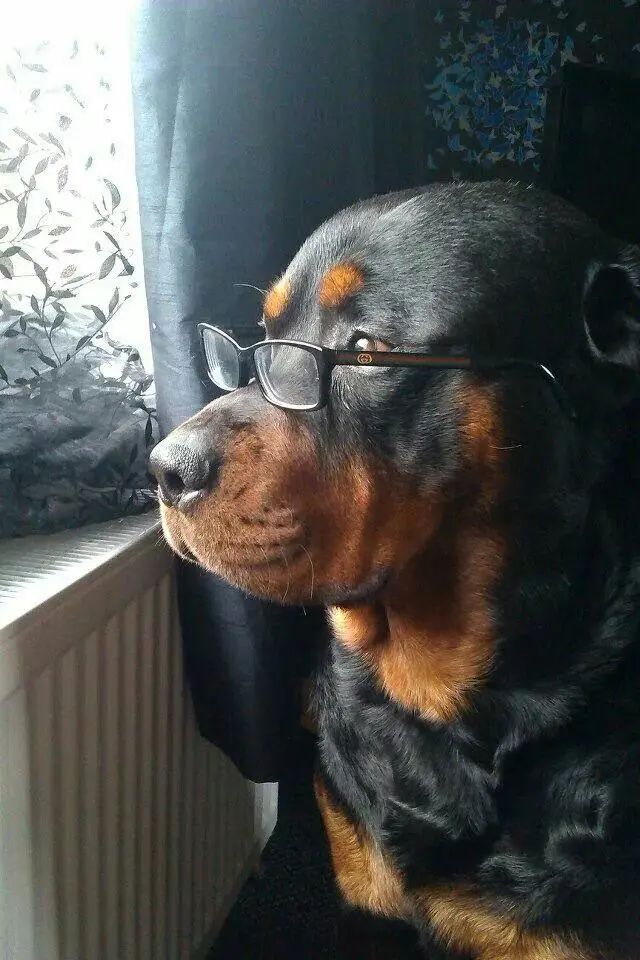
[{"label": "dog's black ear at the right edge of the photo", "polygon": [[589,348],[597,360],[640,373],[640,248],[593,264],[583,298]]}]

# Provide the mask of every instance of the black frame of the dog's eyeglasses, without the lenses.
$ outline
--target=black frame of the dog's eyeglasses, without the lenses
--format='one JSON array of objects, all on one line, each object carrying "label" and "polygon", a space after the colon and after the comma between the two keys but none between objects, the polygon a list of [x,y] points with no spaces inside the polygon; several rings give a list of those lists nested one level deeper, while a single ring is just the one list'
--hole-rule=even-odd
[{"label": "black frame of the dog's eyeglasses, without the lenses", "polygon": [[[320,347],[315,343],[306,343],[303,340],[260,340],[248,347],[241,347],[233,337],[231,337],[220,327],[213,326],[210,323],[199,323],[198,333],[202,350],[205,357],[207,375],[211,382],[224,393],[233,393],[241,387],[246,387],[255,379],[260,387],[263,397],[275,407],[281,410],[298,411],[302,413],[320,410],[329,402],[331,391],[331,374],[335,367],[397,367],[400,369],[421,368],[424,370],[469,370],[474,373],[501,373],[511,370],[521,373],[540,376],[550,387],[558,404],[563,409],[570,420],[576,420],[577,414],[569,399],[566,390],[561,386],[557,377],[551,372],[549,367],[535,360],[525,360],[521,357],[498,357],[493,355],[459,355],[459,354],[434,354],[434,353],[402,353],[392,351],[366,351],[366,350],[333,350],[331,347]],[[213,333],[223,337],[228,343],[235,347],[238,355],[239,379],[238,386],[231,389],[220,387],[215,382],[209,369],[207,353],[204,343],[205,331],[210,330]],[[306,350],[313,354],[319,377],[319,400],[311,405],[287,404],[279,400],[269,389],[268,384],[264,383],[254,360],[254,354],[260,347],[268,344],[269,346],[288,346]]]}]

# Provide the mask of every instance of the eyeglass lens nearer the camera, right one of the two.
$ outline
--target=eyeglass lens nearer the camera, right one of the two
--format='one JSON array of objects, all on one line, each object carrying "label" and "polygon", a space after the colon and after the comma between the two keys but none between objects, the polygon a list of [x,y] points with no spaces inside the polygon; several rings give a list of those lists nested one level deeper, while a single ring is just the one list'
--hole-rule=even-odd
[{"label": "eyeglass lens nearer the camera, right one of the two", "polygon": [[260,382],[275,403],[308,410],[320,402],[320,371],[311,350],[267,342],[256,349],[254,359]]}]

